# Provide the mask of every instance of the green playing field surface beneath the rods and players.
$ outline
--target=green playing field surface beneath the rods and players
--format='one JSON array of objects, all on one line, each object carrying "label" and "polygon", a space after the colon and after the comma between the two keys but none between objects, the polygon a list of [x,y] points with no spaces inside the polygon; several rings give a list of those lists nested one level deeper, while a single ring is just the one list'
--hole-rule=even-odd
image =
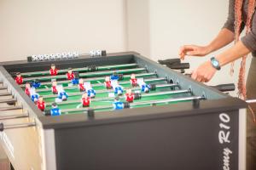
[{"label": "green playing field surface beneath the rods and players", "polygon": [[[122,70],[123,69],[123,70]],[[79,71],[79,69],[74,69],[75,71]],[[141,93],[142,98],[136,99],[131,104],[131,108],[135,107],[145,107],[150,105],[166,105],[169,103],[173,103],[172,101],[164,101],[165,99],[175,99],[177,97],[188,97],[191,96],[189,93],[177,93],[172,94],[178,90],[178,88],[173,88],[167,85],[166,78],[157,77],[155,73],[150,73],[146,69],[137,68],[136,64],[131,65],[116,65],[116,66],[105,66],[99,68],[98,71],[88,72],[86,68],[80,68],[83,72],[80,74],[80,77],[84,78],[84,82],[90,81],[93,89],[96,90],[96,97],[91,99],[90,108],[95,109],[96,111],[111,111],[113,110],[113,100],[117,95],[113,93],[113,90],[107,90],[104,86],[104,79],[106,76],[110,76],[114,72],[118,74],[122,73],[124,78],[119,81],[119,84],[124,88],[131,88],[133,93]],[[44,101],[46,103],[46,110],[51,109],[51,104],[55,102],[57,98],[57,94],[52,94],[51,92],[51,80],[55,79],[58,84],[61,84],[65,89],[65,92],[68,95],[67,101],[62,101],[58,103],[58,107],[61,109],[62,114],[69,113],[82,113],[86,111],[86,108],[83,108],[81,103],[82,94],[84,92],[79,91],[78,85],[73,85],[71,81],[63,78],[67,73],[66,70],[59,71],[59,75],[55,77],[49,76],[49,71],[41,71],[41,72],[33,72],[33,73],[23,73],[22,76],[26,77],[25,82],[29,82],[32,79],[38,79],[42,82],[40,88],[37,88],[36,92],[44,97]],[[131,74],[137,74],[137,78],[144,78],[144,81],[148,84],[156,84],[156,89],[154,91],[150,91],[145,94],[141,92],[140,88],[133,88],[130,83]],[[84,75],[84,76],[83,76]],[[61,83],[60,83],[61,82]],[[158,86],[159,85],[159,86]],[[21,85],[21,88],[25,88],[24,85]],[[125,102],[125,90],[124,94],[119,96],[120,101]],[[147,102],[148,101],[148,102]],[[163,101],[163,102],[157,102]],[[146,103],[145,103],[146,102]],[[77,109],[77,110],[76,110]]]}]

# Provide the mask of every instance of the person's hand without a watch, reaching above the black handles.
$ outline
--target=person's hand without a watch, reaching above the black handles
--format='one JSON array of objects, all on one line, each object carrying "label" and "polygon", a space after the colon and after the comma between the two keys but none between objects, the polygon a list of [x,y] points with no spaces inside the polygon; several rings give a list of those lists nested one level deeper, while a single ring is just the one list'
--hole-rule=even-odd
[{"label": "person's hand without a watch, reaching above the black handles", "polygon": [[184,59],[185,55],[189,56],[205,56],[210,53],[207,46],[197,46],[197,45],[184,45],[179,49],[178,55],[180,59]]}]

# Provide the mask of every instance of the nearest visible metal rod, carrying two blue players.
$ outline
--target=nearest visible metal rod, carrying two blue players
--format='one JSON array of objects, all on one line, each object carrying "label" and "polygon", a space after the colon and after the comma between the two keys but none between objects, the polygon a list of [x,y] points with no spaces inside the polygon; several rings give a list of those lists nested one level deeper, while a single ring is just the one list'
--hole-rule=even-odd
[{"label": "nearest visible metal rod, carrying two blue players", "polygon": [[[137,103],[132,103],[130,104],[131,107],[133,106],[138,106],[138,105],[152,105],[152,104],[162,104],[162,103],[171,103],[171,102],[178,102],[178,101],[189,101],[193,99],[204,99],[204,97],[201,96],[192,96],[192,97],[183,97],[183,98],[176,98],[176,99],[161,99],[161,100],[149,100],[149,101],[141,101]],[[108,106],[96,106],[92,108],[79,108],[79,109],[67,109],[67,110],[62,110],[61,112],[77,112],[77,111],[89,111],[89,110],[108,110],[108,109],[113,109],[113,105],[108,105]]]}]

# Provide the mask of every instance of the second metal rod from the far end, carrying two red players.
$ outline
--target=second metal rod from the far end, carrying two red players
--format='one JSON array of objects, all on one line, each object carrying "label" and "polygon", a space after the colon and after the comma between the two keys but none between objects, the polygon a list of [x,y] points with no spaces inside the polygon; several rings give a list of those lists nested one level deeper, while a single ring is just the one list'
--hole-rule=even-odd
[{"label": "second metal rod from the far end, carrying two red players", "polygon": [[[137,71],[147,71],[146,68],[136,68],[136,69],[124,69],[124,70],[115,70],[115,71],[95,71],[95,72],[85,72],[80,73],[79,77],[92,77],[92,76],[99,76],[99,75],[111,75],[113,72],[116,72],[118,74],[128,73],[128,72],[137,72]],[[51,80],[51,79],[64,79],[67,78],[66,75],[57,75],[57,76],[47,76],[47,77],[29,77],[29,78],[23,78],[24,82],[33,81],[35,79],[37,80]]]}]

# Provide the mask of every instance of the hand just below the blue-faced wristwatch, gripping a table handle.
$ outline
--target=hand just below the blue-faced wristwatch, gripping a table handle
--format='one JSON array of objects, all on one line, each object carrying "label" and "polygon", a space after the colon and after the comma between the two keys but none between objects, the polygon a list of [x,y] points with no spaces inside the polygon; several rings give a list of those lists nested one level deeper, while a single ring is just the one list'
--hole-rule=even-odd
[{"label": "hand just below the blue-faced wristwatch, gripping a table handle", "polygon": [[200,65],[192,72],[192,78],[198,82],[209,82],[217,70],[212,67],[211,61],[207,61]]}]

